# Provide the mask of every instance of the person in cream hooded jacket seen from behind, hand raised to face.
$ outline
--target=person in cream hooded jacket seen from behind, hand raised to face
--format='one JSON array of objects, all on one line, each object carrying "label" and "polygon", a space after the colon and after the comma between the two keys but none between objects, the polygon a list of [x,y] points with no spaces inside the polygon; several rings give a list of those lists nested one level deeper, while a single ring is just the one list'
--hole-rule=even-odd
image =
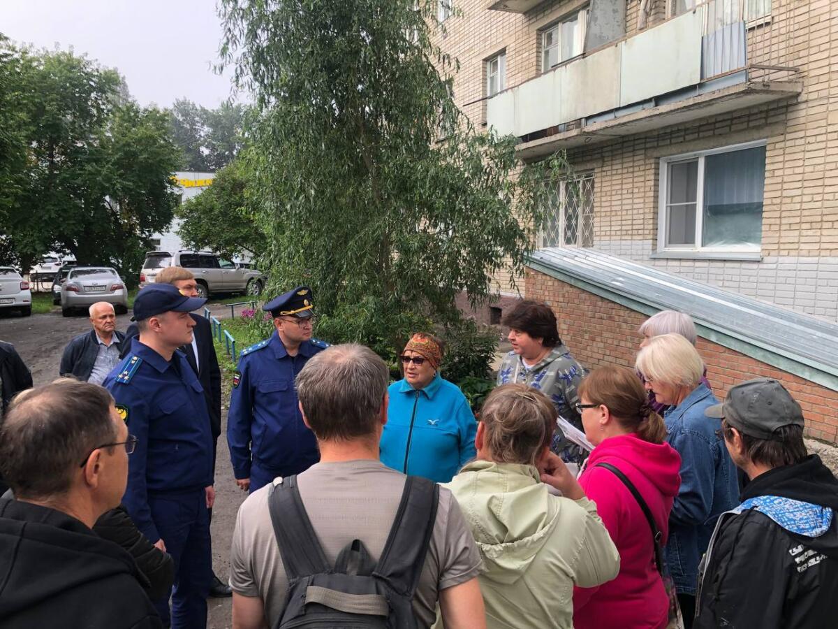
[{"label": "person in cream hooded jacket seen from behind, hand raised to face", "polygon": [[549,450],[555,425],[544,393],[525,384],[494,389],[480,413],[477,460],[447,485],[484,559],[478,579],[489,628],[571,629],[573,586],[618,574],[597,506]]}]

